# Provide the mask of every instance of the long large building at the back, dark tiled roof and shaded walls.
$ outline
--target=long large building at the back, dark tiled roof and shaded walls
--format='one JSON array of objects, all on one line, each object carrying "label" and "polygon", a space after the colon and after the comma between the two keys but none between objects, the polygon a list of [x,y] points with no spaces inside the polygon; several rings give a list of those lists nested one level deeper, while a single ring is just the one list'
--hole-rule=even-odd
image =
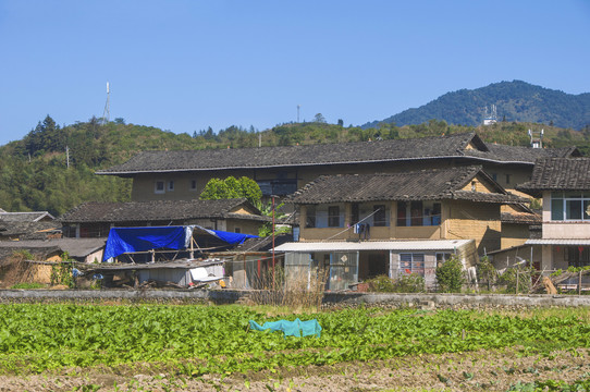
[{"label": "long large building at the back, dark tiled roof and shaded walls", "polygon": [[97,171],[133,179],[132,200],[190,200],[212,177],[247,176],[262,194],[287,196],[319,175],[403,172],[480,164],[506,189],[530,179],[534,161],[576,157],[570,148],[489,144],[476,133],[438,137],[318,144],[291,147],[143,151],[127,162]]}]

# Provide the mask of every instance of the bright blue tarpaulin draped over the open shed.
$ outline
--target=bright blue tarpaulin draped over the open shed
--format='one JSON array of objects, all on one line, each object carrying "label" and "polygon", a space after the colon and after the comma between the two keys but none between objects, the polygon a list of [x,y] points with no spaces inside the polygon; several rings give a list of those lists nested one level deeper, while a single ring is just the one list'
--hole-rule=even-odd
[{"label": "bright blue tarpaulin draped over the open shed", "polygon": [[198,225],[112,228],[109,231],[102,260],[108,260],[125,253],[160,248],[185,249],[190,245],[190,237],[195,228],[231,245],[242,244],[246,238],[257,237],[256,235],[210,230]]}]

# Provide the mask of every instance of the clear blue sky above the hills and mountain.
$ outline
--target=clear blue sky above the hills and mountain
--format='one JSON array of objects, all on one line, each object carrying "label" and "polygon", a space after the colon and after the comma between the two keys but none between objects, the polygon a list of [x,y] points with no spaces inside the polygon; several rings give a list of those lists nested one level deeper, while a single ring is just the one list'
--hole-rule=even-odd
[{"label": "clear blue sky above the hills and mountain", "polygon": [[521,79],[590,91],[589,0],[0,0],[0,145],[47,114],[193,134],[382,120]]}]

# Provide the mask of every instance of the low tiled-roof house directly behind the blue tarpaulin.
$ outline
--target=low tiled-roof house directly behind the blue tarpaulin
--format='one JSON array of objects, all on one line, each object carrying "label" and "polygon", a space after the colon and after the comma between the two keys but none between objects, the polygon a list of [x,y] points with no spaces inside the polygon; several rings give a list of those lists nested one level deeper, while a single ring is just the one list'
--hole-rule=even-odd
[{"label": "low tiled-roof house directly behind the blue tarpaulin", "polygon": [[107,237],[111,228],[197,224],[205,229],[258,234],[270,221],[245,198],[85,203],[60,217],[67,237]]}]

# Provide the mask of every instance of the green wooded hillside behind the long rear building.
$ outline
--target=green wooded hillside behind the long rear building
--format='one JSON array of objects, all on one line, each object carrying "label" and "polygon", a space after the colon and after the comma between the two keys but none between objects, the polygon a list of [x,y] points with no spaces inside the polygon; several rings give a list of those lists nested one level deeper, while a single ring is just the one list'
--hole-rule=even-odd
[{"label": "green wooded hillside behind the long rear building", "polygon": [[[256,132],[230,126],[194,135],[174,134],[152,126],[96,119],[60,127],[49,115],[23,139],[0,147],[0,208],[7,211],[48,210],[60,216],[84,201],[127,201],[131,180],[94,172],[122,163],[143,150],[243,148],[316,143],[346,143],[478,132],[487,142],[528,145],[527,130],[545,130],[544,145],[576,145],[590,150],[590,132],[554,126],[499,122],[487,127],[451,126],[430,120],[418,125],[380,123],[374,127],[342,126],[325,122],[290,123]],[[66,147],[69,152],[66,154]],[[69,157],[69,159],[67,159]]]}]

